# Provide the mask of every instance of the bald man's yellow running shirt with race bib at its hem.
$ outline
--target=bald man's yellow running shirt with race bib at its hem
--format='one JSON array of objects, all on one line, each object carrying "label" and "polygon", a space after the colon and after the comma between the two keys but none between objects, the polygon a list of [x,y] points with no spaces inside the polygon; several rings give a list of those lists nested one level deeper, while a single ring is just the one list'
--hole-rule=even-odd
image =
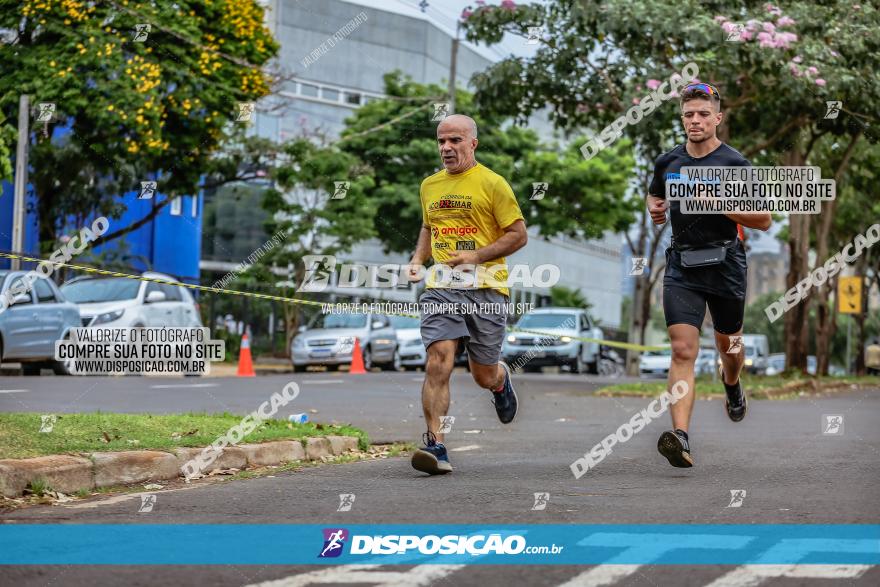
[{"label": "bald man's yellow running shirt with race bib at its hem", "polygon": [[[517,220],[524,220],[513,190],[507,181],[489,168],[477,163],[455,175],[445,169],[422,182],[422,222],[431,229],[431,252],[434,262],[446,263],[462,251],[474,251],[497,241],[504,229]],[[487,272],[487,270],[490,271]],[[504,257],[487,261],[465,283],[461,272],[453,271],[452,279],[442,273],[429,272],[427,287],[494,287],[509,295],[507,264]],[[488,275],[489,279],[483,279]],[[439,277],[439,279],[438,279]]]}]

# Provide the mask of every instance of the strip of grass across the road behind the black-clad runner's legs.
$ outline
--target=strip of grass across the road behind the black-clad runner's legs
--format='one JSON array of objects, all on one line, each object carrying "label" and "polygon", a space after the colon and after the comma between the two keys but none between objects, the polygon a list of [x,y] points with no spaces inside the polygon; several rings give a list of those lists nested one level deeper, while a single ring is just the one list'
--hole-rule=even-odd
[{"label": "strip of grass across the road behind the black-clad runner's legs", "polygon": [[[751,397],[758,399],[779,399],[797,397],[799,392],[821,393],[823,391],[840,391],[848,389],[851,385],[859,387],[880,386],[877,377],[811,377],[802,374],[797,375],[742,375],[743,387]],[[619,383],[603,387],[596,392],[600,396],[631,396],[631,397],[654,397],[666,391],[665,379],[655,381],[640,381],[638,383]],[[721,379],[712,381],[710,375],[701,375],[696,379],[697,397],[722,397],[724,387]]]}]

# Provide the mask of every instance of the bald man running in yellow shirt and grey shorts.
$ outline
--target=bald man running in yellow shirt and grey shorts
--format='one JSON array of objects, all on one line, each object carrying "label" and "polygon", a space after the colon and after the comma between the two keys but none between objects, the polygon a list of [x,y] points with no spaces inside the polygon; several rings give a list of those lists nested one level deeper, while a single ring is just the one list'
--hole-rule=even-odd
[{"label": "bald man running in yellow shirt and grey shorts", "polygon": [[504,257],[528,236],[513,190],[503,177],[477,163],[477,125],[454,114],[437,126],[444,169],[422,182],[422,229],[409,277],[421,278],[424,263],[436,265],[419,299],[422,342],[428,351],[422,409],[428,431],[412,465],[431,475],[452,471],[443,445],[441,418],[449,411],[449,376],[460,342],[467,345],[471,375],[492,392],[502,423],[516,416],[518,401],[510,368],[500,361],[507,326]]}]

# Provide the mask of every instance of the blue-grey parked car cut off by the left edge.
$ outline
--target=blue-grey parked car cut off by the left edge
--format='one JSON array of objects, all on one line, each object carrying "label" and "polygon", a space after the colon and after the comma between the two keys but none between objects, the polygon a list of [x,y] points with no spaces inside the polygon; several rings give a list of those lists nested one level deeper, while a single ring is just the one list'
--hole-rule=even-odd
[{"label": "blue-grey parked car cut off by the left edge", "polygon": [[[0,295],[21,289],[17,286],[26,273],[0,271]],[[38,277],[30,291],[16,295],[0,312],[0,362],[20,362],[25,375],[39,375],[43,367],[66,375],[65,364],[55,360],[55,341],[81,324],[77,305],[67,301],[50,279]]]}]

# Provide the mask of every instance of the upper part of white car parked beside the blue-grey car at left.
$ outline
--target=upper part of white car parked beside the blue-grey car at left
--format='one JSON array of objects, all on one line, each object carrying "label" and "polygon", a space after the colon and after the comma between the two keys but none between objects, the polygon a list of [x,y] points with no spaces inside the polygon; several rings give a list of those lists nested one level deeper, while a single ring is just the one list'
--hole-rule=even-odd
[{"label": "upper part of white car parked beside the blue-grey car at left", "polygon": [[[176,281],[163,273],[143,274]],[[193,327],[201,326],[199,306],[185,287],[125,277],[77,277],[61,286],[64,296],[77,304],[83,326]]]}]

